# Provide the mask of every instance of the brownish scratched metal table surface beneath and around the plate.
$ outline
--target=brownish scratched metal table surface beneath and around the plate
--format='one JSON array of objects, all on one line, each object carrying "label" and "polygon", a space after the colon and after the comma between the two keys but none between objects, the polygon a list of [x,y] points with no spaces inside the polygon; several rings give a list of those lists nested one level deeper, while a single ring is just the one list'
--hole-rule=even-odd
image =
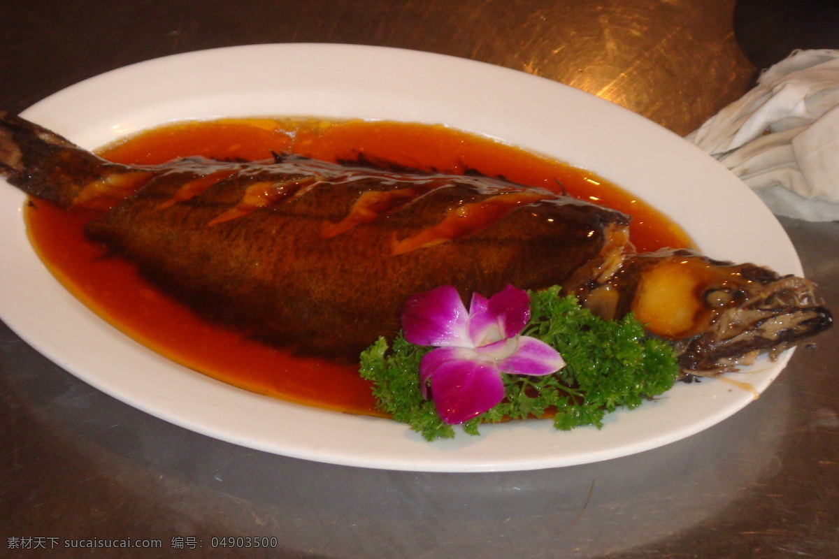
[{"label": "brownish scratched metal table surface beneath and around the plate", "polygon": [[[733,0],[11,0],[0,3],[0,107],[21,111],[166,54],[330,42],[508,66],[685,134],[757,75],[737,44],[734,8]],[[839,223],[782,224],[836,308]],[[832,329],[815,349],[800,349],[743,411],[664,448],[570,468],[427,474],[309,463],[175,427],[87,386],[2,325],[0,556],[839,556],[837,338]],[[277,546],[211,546],[222,536],[274,536]],[[70,547],[108,538],[162,547]]]}]

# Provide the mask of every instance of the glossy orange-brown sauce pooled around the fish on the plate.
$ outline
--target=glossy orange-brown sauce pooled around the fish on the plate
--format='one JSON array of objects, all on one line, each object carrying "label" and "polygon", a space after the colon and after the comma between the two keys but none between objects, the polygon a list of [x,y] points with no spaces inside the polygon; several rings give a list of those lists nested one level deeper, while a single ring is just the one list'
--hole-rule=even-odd
[{"label": "glossy orange-brown sauce pooled around the fish on the plate", "polygon": [[[633,216],[639,251],[690,246],[678,225],[613,184],[578,168],[446,127],[318,119],[226,119],[155,128],[102,148],[118,163],[202,155],[263,160],[294,152],[327,161],[383,160],[440,173],[477,171],[588,199]],[[25,217],[39,256],[60,282],[133,339],[190,369],[249,391],[336,411],[378,415],[355,367],[300,358],[198,318],[143,281],[135,267],[83,235],[90,210],[30,200]],[[486,293],[489,295],[489,293]]]}]

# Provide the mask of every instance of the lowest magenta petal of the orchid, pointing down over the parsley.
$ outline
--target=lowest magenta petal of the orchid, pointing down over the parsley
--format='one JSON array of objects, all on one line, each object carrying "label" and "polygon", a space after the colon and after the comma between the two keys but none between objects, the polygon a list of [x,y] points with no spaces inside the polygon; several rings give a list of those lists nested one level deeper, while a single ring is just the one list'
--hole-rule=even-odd
[{"label": "lowest magenta petal of the orchid, pointing down over the parsley", "polygon": [[[449,359],[437,355],[432,358],[434,366],[429,366],[429,370],[433,370],[425,371],[440,419],[449,424],[466,422],[503,400],[504,383],[494,363],[477,358],[474,350],[466,351],[476,359],[451,359],[451,355],[465,355],[463,348],[440,349],[449,350]],[[439,349],[426,354],[423,361],[436,351]],[[423,365],[420,368],[423,369]]]}]

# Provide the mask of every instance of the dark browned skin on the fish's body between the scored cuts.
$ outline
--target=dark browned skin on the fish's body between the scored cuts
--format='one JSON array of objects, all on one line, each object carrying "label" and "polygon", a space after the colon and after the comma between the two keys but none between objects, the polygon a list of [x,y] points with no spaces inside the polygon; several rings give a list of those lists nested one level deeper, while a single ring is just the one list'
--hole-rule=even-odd
[{"label": "dark browned skin on the fish's body between the scored cuts", "polygon": [[[315,186],[306,180],[312,176]],[[293,185],[296,192],[246,216],[215,221],[250,186],[267,179],[280,188]],[[428,181],[434,188],[393,213],[336,236],[321,234],[364,193]],[[544,193],[550,199],[520,204],[485,229],[393,254],[394,241],[430,230],[453,209],[518,187],[292,160],[242,171],[161,208],[184,182],[183,173],[149,181],[91,222],[88,234],[211,318],[274,343],[352,359],[378,336],[399,329],[399,312],[413,293],[441,284],[455,285],[466,296],[491,294],[508,283],[537,288],[566,282],[581,270],[593,273],[591,263],[604,251],[622,251],[620,243],[610,243],[627,224],[617,212]]]}]

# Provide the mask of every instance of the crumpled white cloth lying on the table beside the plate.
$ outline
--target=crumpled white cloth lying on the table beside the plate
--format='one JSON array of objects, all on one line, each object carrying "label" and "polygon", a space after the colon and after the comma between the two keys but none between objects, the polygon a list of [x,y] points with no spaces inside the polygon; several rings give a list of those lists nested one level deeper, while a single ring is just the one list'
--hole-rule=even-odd
[{"label": "crumpled white cloth lying on the table beside the plate", "polygon": [[777,215],[839,220],[839,50],[800,50],[687,139]]}]

